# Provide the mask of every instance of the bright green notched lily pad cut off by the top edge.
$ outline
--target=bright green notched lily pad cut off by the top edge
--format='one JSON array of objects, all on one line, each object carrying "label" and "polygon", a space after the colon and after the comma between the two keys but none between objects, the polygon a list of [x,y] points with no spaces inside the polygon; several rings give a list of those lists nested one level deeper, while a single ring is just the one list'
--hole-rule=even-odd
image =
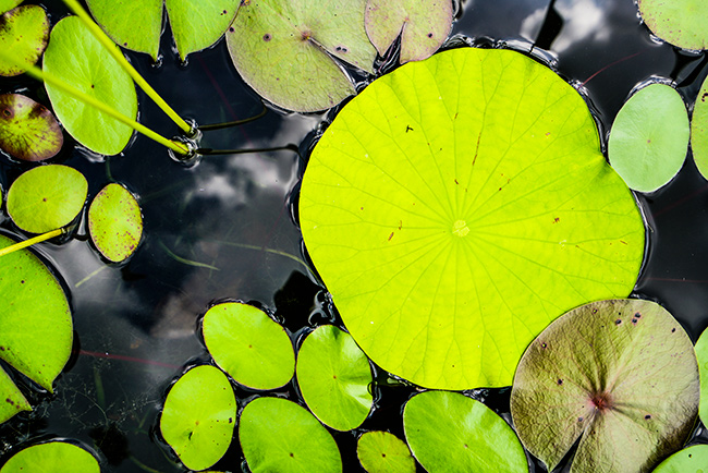
[{"label": "bright green notched lily pad cut off by the top edge", "polygon": [[[120,8],[111,0],[86,2],[96,22],[117,44],[146,52],[157,60],[167,7],[180,58],[219,40],[239,10],[239,0],[127,0]],[[139,27],[135,27],[139,19]]]}]

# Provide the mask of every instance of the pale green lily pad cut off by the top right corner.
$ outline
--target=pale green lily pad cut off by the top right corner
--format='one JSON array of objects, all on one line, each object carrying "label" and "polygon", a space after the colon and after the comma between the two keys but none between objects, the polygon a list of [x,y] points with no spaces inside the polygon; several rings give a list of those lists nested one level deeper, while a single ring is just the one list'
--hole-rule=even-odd
[{"label": "pale green lily pad cut off by the top right corner", "polygon": [[639,0],[639,13],[651,33],[684,49],[708,48],[708,3],[704,0]]}]

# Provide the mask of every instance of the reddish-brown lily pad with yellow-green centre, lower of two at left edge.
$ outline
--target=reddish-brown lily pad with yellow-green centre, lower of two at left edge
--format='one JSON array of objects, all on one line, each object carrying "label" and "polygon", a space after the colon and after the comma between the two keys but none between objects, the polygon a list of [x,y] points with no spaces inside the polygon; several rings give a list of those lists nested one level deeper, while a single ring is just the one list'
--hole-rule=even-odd
[{"label": "reddish-brown lily pad with yellow-green centre, lower of two at left edge", "polygon": [[63,144],[61,126],[45,106],[20,94],[0,95],[0,149],[15,159],[41,161]]}]

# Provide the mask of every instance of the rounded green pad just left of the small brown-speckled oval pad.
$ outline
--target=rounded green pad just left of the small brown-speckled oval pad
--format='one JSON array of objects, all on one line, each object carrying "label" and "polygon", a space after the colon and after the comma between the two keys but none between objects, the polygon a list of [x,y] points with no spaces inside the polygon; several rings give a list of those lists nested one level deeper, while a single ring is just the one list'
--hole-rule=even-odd
[{"label": "rounded green pad just left of the small brown-speckled oval pad", "polygon": [[38,166],[20,175],[8,191],[8,214],[32,233],[62,228],[84,208],[88,183],[69,166]]}]

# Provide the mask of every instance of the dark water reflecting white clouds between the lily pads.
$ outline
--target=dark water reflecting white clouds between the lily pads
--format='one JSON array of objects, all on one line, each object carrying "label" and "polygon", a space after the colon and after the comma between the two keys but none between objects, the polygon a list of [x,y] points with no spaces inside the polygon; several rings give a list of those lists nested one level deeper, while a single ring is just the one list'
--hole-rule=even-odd
[{"label": "dark water reflecting white clouds between the lily pads", "polygon": [[[708,74],[704,54],[674,50],[649,38],[630,0],[468,1],[453,34],[479,43],[505,41],[552,62],[574,83],[585,83],[603,133],[637,84],[674,80],[693,104]],[[65,12],[45,3],[52,22]],[[129,53],[147,81],[183,117],[199,124],[258,113],[258,98],[239,78],[223,41],[179,63],[169,31],[162,64]],[[597,74],[597,75],[596,75]],[[589,78],[589,80],[588,80]],[[24,88],[44,100],[37,83],[0,81],[0,92]],[[139,92],[141,121],[172,136],[175,126]],[[266,117],[237,129],[205,134],[211,148],[300,146],[292,150],[205,157],[182,167],[159,145],[136,136],[122,156],[97,159],[65,146],[57,161],[81,170],[95,195],[111,180],[141,197],[145,240],[129,264],[107,266],[85,241],[45,244],[40,252],[58,268],[71,293],[77,343],[54,396],[35,392],[37,408],[0,426],[0,461],[22,445],[66,437],[94,446],[103,471],[176,472],[182,469],[158,440],[157,420],[170,383],[191,363],[207,360],[196,327],[209,304],[223,299],[257,301],[297,339],[312,323],[331,317],[325,292],[303,263],[301,235],[292,219],[291,195],[322,116]],[[0,159],[7,190],[25,167]],[[691,155],[663,190],[639,196],[650,228],[649,256],[636,295],[664,305],[695,341],[708,325],[708,184]],[[13,230],[0,216],[0,227]],[[84,233],[80,228],[78,233]],[[108,355],[107,355],[108,354]],[[378,374],[379,380],[386,374]],[[279,392],[295,399],[292,385]],[[363,429],[389,429],[402,437],[401,408],[412,388],[377,388],[378,408]],[[253,393],[239,390],[244,400]],[[509,390],[474,393],[506,419]],[[243,403],[242,403],[243,405]],[[700,429],[700,427],[699,427]],[[357,430],[357,432],[361,432]],[[355,433],[333,433],[346,471],[358,471]],[[703,441],[708,437],[700,435]],[[215,470],[241,469],[237,441]],[[535,465],[536,471],[544,471]]]}]

